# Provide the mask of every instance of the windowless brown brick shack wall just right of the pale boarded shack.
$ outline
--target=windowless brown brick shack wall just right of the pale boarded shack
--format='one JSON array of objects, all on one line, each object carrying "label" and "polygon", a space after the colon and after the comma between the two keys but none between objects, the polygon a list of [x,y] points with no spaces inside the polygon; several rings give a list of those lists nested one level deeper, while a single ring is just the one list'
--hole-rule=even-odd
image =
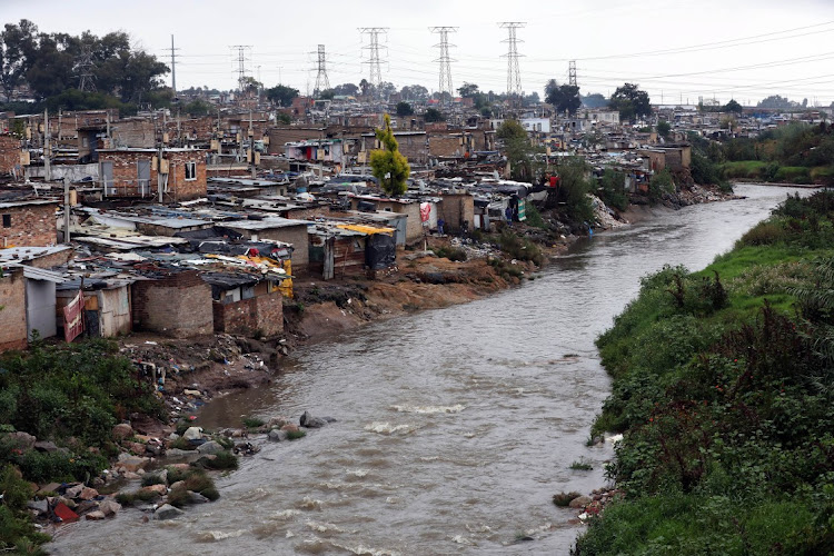
[{"label": "windowless brown brick shack wall just right of the pale boarded shack", "polygon": [[211,286],[197,271],[187,270],[132,286],[133,328],[172,338],[211,334]]}]

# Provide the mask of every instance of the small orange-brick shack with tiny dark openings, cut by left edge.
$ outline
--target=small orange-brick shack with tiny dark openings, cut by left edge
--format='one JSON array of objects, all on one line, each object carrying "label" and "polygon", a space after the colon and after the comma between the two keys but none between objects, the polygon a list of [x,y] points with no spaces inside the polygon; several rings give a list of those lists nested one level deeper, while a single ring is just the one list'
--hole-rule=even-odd
[{"label": "small orange-brick shack with tiny dark openings, cut by left edge", "polygon": [[58,201],[0,202],[0,248],[47,247],[58,242]]}]

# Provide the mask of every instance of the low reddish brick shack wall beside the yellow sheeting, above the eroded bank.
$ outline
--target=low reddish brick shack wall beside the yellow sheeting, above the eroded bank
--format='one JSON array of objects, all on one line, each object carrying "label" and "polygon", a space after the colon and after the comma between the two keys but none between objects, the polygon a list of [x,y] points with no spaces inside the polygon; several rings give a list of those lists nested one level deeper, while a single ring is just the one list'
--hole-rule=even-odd
[{"label": "low reddish brick shack wall beside the yellow sheeting, above the eroded bank", "polygon": [[215,301],[215,331],[267,337],[284,331],[284,299],[280,291],[264,294],[232,304]]}]

